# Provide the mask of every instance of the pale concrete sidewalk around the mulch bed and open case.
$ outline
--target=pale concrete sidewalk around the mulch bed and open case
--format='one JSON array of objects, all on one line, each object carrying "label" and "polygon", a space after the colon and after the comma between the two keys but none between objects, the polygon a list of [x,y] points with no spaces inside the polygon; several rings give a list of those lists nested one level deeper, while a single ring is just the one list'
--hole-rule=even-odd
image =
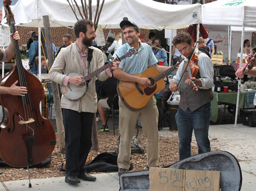
[{"label": "pale concrete sidewalk around the mulch bed and open case", "polygon": [[[233,154],[239,161],[242,170],[242,191],[256,191],[256,128],[241,124],[239,128],[229,125],[211,125],[209,129],[209,139],[212,150],[223,150]],[[159,131],[159,136],[168,138],[177,137],[177,133],[163,128]],[[195,138],[192,144],[196,145]],[[90,190],[90,191],[118,191],[119,177],[116,173],[95,174],[97,180],[88,182],[81,180],[78,185],[65,183],[65,177],[31,179],[32,188],[28,188],[28,180],[8,181],[0,185],[0,190]]]}]

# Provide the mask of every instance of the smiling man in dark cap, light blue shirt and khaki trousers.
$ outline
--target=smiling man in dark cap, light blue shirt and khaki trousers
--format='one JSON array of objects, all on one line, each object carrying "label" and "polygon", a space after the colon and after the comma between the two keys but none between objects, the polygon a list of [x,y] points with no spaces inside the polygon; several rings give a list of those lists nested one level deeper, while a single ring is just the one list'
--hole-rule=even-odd
[{"label": "smiling man in dark cap, light blue shirt and khaki trousers", "polygon": [[[139,42],[140,29],[137,24],[128,20],[123,20],[120,22],[120,27],[124,33],[124,38],[127,43],[117,49],[116,55],[123,55],[132,47],[138,49],[138,54],[120,61],[119,68],[113,72],[114,76],[121,81],[136,82],[139,85],[141,84],[148,87],[151,84],[148,78],[134,76],[133,74],[140,74],[148,67],[154,67],[158,72],[163,72],[170,67],[158,66],[156,64],[158,61],[154,56],[151,47],[146,43]],[[134,97],[134,99],[138,98]],[[143,133],[147,138],[147,165],[149,167],[158,166],[158,110],[156,106],[156,99],[153,96],[144,107],[137,110],[131,110],[120,99],[120,145],[117,158],[119,175],[127,172],[130,167],[131,139],[139,116],[141,119]]]}]

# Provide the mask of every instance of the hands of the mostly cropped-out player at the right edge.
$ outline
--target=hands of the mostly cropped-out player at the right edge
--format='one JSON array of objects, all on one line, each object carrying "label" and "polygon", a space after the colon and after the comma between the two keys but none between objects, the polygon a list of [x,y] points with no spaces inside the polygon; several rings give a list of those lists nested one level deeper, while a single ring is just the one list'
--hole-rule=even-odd
[{"label": "hands of the mostly cropped-out player at the right edge", "polygon": [[244,74],[248,74],[250,76],[256,77],[256,67],[255,67],[256,66],[256,58],[253,56],[253,54],[248,54],[245,57],[245,59],[246,59],[247,63],[251,62],[251,65],[253,66],[253,68],[251,70],[248,70],[248,68],[246,68],[244,70],[244,67],[240,67],[236,71],[236,76],[242,78]]}]

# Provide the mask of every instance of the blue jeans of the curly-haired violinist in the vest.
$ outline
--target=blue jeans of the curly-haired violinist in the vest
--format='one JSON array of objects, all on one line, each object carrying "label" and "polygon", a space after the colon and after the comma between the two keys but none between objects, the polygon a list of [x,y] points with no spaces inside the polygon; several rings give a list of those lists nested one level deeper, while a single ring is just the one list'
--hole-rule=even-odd
[{"label": "blue jeans of the curly-haired violinist in the vest", "polygon": [[179,135],[180,160],[191,156],[191,138],[194,129],[198,153],[211,151],[208,130],[210,123],[211,102],[201,106],[195,111],[188,108],[185,112],[178,109],[176,113],[176,123]]}]

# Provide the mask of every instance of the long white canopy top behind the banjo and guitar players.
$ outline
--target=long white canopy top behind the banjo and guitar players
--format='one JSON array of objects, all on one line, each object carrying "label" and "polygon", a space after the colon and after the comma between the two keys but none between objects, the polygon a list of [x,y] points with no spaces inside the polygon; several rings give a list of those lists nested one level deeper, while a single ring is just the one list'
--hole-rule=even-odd
[{"label": "long white canopy top behind the banjo and guitar players", "polygon": [[[77,0],[77,3],[81,8],[81,1]],[[94,16],[95,0],[92,6]],[[75,10],[80,19],[77,8]],[[72,26],[76,22],[66,0],[19,0],[12,6],[12,11],[16,25],[24,27],[43,27],[43,15],[49,16],[51,27]],[[181,14],[179,19],[173,19]],[[123,17],[128,17],[143,29],[181,29],[189,24],[201,23],[201,4],[171,5],[153,0],[105,0],[98,24],[108,29],[119,28]],[[3,19],[1,24],[5,22],[6,19]]]}]

